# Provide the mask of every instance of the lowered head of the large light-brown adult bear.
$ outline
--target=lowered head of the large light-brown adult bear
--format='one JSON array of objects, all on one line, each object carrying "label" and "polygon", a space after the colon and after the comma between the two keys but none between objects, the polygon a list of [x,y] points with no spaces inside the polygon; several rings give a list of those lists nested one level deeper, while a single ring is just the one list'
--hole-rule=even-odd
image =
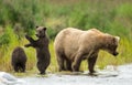
[{"label": "lowered head of the large light-brown adult bear", "polygon": [[106,42],[106,49],[110,54],[117,56],[119,53],[117,47],[119,45],[120,38],[113,35],[107,35],[107,39],[103,41]]}]

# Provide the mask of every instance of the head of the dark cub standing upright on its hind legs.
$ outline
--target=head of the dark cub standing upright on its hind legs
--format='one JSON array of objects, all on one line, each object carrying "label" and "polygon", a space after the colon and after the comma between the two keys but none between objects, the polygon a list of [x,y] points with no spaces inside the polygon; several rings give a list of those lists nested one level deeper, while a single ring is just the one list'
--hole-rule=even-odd
[{"label": "head of the dark cub standing upright on its hind legs", "polygon": [[46,28],[45,26],[36,26],[36,36],[37,38],[45,38],[46,35]]}]

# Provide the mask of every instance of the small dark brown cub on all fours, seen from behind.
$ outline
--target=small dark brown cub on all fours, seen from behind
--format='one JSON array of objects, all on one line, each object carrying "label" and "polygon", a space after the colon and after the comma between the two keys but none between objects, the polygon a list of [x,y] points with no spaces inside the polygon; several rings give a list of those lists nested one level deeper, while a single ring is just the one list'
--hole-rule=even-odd
[{"label": "small dark brown cub on all fours, seen from behind", "polygon": [[13,50],[11,64],[15,72],[25,72],[26,55],[22,47],[16,46]]}]

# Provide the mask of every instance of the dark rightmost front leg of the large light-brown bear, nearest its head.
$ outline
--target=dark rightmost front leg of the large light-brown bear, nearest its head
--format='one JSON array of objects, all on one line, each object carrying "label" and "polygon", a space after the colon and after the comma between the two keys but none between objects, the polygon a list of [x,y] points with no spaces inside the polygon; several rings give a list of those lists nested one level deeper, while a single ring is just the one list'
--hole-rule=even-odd
[{"label": "dark rightmost front leg of the large light-brown bear, nearest its head", "polygon": [[96,61],[97,61],[97,56],[98,55],[95,55],[95,56],[90,56],[88,59],[88,68],[89,68],[89,72],[92,74],[95,73],[96,71],[94,70],[95,67],[95,64],[96,64]]}]

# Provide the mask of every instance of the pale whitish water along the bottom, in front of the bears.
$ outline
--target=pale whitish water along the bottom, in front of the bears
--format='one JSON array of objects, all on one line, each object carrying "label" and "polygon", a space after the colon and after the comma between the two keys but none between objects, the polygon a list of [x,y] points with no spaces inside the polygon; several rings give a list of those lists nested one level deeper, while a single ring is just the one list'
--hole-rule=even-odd
[{"label": "pale whitish water along the bottom, in front of the bears", "polygon": [[[2,85],[132,85],[132,64],[108,66],[103,71],[97,71],[95,76],[88,72],[75,74],[48,74],[46,77],[21,77],[18,84]],[[1,85],[1,84],[0,84]]]}]

